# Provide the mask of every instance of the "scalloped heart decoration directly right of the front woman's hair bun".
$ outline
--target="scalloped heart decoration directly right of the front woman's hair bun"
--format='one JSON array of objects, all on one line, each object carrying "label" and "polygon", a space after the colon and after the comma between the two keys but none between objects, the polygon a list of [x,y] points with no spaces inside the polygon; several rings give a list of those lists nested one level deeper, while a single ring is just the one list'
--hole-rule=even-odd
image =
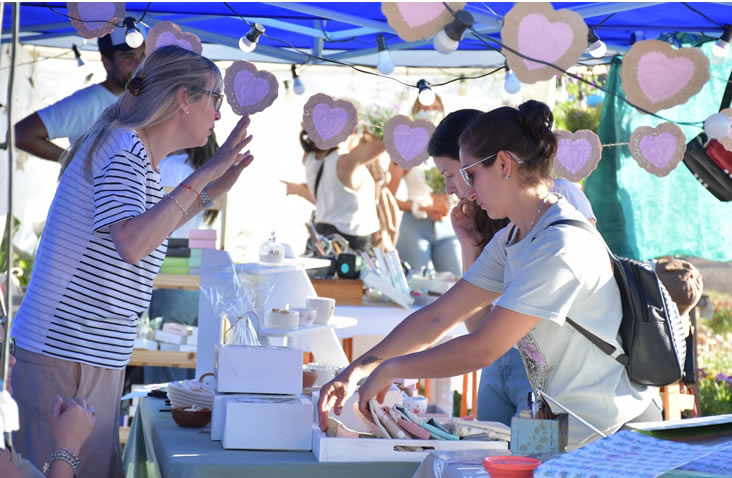
[{"label": "scalloped heart decoration directly right of the front woman's hair bun", "polygon": [[602,142],[588,129],[571,133],[556,131],[557,154],[554,156],[554,174],[572,182],[579,182],[597,168],[602,158]]}]

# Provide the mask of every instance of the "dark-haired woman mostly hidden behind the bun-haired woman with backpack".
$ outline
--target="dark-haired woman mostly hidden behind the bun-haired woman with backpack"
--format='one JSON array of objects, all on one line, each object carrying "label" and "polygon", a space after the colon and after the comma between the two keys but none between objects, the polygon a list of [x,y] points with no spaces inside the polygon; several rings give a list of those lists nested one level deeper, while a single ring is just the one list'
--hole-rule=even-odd
[{"label": "dark-haired woman mostly hidden behind the bun-haired woman with backpack", "polygon": [[[452,226],[460,241],[463,272],[467,272],[483,248],[506,225],[508,219],[491,219],[474,201],[467,197],[468,188],[460,177],[460,146],[457,138],[481,111],[458,110],[440,122],[430,138],[428,150],[440,173],[445,177],[445,190],[458,197],[458,205],[451,213]],[[595,220],[592,206],[574,183],[555,179],[552,191],[561,193],[589,221]],[[484,317],[473,316],[465,322],[468,332],[480,328]],[[527,406],[531,384],[526,376],[521,354],[512,347],[491,365],[480,372],[478,387],[478,420],[501,422],[511,425],[511,418]]]}]

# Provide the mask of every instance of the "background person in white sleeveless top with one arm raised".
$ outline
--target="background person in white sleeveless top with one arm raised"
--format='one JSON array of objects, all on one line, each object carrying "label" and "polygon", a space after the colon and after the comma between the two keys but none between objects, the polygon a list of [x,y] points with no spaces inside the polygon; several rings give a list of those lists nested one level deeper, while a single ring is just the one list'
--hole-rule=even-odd
[{"label": "background person in white sleeveless top with one arm raised", "polygon": [[340,234],[355,251],[371,250],[371,235],[379,230],[374,205],[376,183],[366,163],[384,152],[384,142],[364,133],[352,136],[340,147],[322,150],[300,132],[306,183],[287,185],[287,195],[315,204],[315,230],[328,236]]}]

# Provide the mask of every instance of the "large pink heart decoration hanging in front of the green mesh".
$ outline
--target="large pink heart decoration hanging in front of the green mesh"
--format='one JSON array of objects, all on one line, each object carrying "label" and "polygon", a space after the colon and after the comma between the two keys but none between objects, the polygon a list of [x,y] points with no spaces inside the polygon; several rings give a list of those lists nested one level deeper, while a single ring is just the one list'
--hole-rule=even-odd
[{"label": "large pink heart decoration hanging in front of the green mesh", "polygon": [[623,57],[620,80],[628,101],[656,113],[699,93],[709,81],[709,60],[699,48],[643,40]]}]

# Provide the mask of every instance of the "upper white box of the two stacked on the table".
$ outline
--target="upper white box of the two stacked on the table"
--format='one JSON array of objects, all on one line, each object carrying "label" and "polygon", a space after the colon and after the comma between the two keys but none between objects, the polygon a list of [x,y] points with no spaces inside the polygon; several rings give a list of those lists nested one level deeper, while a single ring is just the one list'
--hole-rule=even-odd
[{"label": "upper white box of the two stacked on the table", "polygon": [[217,345],[216,391],[224,393],[302,393],[302,350],[289,347]]}]

